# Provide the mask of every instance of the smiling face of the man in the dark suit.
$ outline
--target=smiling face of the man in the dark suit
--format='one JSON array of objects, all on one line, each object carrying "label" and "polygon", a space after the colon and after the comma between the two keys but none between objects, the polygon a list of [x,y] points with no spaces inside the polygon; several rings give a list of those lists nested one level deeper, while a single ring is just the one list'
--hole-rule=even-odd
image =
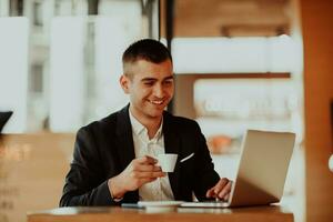
[{"label": "smiling face of the man in the dark suit", "polygon": [[140,119],[158,119],[173,97],[172,62],[165,60],[153,63],[139,60],[128,70],[131,75],[122,75],[120,83],[125,93],[130,94],[131,112]]}]

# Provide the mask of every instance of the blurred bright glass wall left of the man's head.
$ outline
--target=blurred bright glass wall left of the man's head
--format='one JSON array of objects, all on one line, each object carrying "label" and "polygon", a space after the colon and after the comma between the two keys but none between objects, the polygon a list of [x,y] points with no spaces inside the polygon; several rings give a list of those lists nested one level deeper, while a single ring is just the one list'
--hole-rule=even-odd
[{"label": "blurred bright glass wall left of the man's head", "polygon": [[[74,132],[128,103],[121,54],[158,38],[158,1],[0,1],[0,110],[4,132]],[[13,17],[19,16],[19,17]]]}]

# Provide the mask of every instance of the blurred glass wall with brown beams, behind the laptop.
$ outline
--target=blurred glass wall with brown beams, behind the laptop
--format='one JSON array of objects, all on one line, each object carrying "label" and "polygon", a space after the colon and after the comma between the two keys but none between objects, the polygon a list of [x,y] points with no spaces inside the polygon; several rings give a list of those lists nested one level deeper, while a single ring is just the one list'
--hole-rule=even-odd
[{"label": "blurred glass wall with brown beams, behind the laptop", "polygon": [[282,205],[303,221],[303,54],[296,1],[174,4],[173,112],[199,122],[216,171],[230,179],[236,176],[248,129],[295,132]]}]

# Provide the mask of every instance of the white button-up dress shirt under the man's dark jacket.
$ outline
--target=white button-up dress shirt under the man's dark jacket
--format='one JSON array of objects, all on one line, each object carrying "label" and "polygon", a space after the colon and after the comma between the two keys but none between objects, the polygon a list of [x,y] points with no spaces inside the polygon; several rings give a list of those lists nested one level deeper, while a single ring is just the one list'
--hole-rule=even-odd
[{"label": "white button-up dress shirt under the man's dark jacket", "polygon": [[[141,158],[144,155],[157,158],[160,153],[165,153],[164,137],[162,133],[163,120],[158,132],[150,140],[147,128],[144,128],[144,125],[142,125],[132,115],[131,111],[129,112],[130,112],[130,120],[132,125],[135,158]],[[169,181],[169,175],[167,174],[164,178],[159,178],[139,188],[139,199],[140,201],[174,200],[170,181]]]}]

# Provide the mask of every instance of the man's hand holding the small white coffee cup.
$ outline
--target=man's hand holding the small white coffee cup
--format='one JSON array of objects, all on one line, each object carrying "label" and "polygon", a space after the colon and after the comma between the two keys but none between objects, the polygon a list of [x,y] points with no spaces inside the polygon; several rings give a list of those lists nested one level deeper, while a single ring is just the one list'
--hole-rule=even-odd
[{"label": "man's hand holding the small white coffee cup", "polygon": [[139,189],[144,183],[165,176],[157,160],[151,157],[138,158],[117,176],[109,179],[108,185],[113,198],[120,199],[127,192]]}]

